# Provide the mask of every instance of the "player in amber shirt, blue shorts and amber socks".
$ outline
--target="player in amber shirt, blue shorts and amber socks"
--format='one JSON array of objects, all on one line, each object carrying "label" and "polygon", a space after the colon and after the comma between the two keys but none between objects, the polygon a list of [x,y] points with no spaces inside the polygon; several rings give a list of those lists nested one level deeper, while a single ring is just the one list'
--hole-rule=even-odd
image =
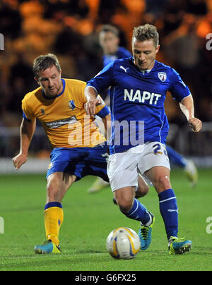
[{"label": "player in amber shirt, blue shorts and amber socks", "polygon": [[[66,190],[86,175],[100,176],[108,181],[107,146],[94,123],[95,118],[85,112],[86,83],[61,78],[61,68],[54,54],[38,56],[33,71],[40,87],[23,98],[20,152],[13,158],[13,164],[19,169],[26,162],[36,119],[39,119],[53,150],[47,170],[47,241],[35,245],[35,253],[60,253],[59,229],[64,219],[61,202]],[[101,97],[98,97],[97,114],[107,126],[110,111]]]}]

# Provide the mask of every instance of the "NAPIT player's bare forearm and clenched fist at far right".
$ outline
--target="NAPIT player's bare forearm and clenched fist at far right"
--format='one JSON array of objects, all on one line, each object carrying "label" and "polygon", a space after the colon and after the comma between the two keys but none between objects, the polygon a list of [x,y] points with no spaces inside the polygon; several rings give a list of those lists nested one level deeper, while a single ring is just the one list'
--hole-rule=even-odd
[{"label": "NAPIT player's bare forearm and clenched fist at far right", "polygon": [[189,127],[192,128],[192,131],[199,132],[202,127],[202,122],[194,116],[194,102],[192,95],[184,97],[184,99],[179,102],[179,107],[184,116],[186,116]]}]

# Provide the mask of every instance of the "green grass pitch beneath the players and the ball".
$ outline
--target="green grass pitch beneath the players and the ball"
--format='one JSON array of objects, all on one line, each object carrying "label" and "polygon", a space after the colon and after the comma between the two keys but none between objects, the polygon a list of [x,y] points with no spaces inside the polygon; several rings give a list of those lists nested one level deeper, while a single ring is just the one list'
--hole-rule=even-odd
[{"label": "green grass pitch beneath the players and the ball", "polygon": [[74,183],[63,201],[64,224],[60,231],[60,255],[35,255],[34,245],[45,241],[43,208],[46,197],[45,175],[0,176],[0,271],[204,271],[211,270],[212,234],[206,233],[206,218],[212,216],[211,169],[199,170],[199,183],[189,188],[180,169],[171,174],[179,207],[179,237],[193,242],[191,253],[168,255],[158,195],[153,188],[141,198],[155,214],[150,248],[133,260],[114,260],[107,253],[107,235],[119,226],[136,232],[139,222],[127,219],[112,203],[110,188],[88,194],[95,177]]}]

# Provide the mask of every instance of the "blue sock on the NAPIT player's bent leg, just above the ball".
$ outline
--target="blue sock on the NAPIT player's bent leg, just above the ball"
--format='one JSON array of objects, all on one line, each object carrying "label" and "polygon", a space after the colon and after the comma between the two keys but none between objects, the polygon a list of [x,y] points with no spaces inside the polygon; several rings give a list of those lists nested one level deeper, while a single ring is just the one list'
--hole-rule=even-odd
[{"label": "blue sock on the NAPIT player's bent leg, just above the ball", "polygon": [[123,214],[130,219],[140,221],[141,224],[146,226],[149,226],[152,223],[151,214],[148,213],[146,207],[137,199],[134,199],[134,205],[131,207],[131,210],[128,213],[123,212]]}]

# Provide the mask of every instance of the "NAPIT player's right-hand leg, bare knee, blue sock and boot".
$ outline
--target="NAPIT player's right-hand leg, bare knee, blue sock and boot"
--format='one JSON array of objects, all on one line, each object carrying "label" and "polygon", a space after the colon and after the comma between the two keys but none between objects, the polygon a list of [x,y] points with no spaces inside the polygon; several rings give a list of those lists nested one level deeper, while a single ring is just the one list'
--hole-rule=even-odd
[{"label": "NAPIT player's right-hand leg, bare knee, blue sock and boot", "polygon": [[158,192],[160,214],[163,217],[167,234],[170,254],[182,254],[192,248],[192,241],[177,238],[178,234],[178,207],[175,192],[170,183],[170,169],[164,166],[154,166],[146,171],[155,190]]}]

